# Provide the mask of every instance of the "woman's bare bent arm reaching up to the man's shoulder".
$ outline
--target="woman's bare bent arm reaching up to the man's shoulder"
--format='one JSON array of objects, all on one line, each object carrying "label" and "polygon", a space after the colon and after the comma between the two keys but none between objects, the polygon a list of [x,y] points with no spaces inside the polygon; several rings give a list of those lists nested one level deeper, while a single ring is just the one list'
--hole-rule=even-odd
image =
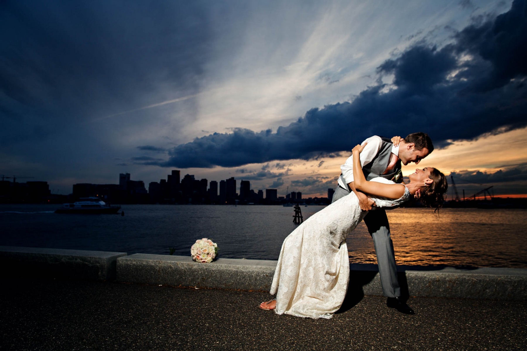
[{"label": "woman's bare bent arm reaching up to the man's shoulder", "polygon": [[366,180],[362,167],[360,166],[360,152],[365,145],[357,145],[353,148],[353,177],[355,179],[355,188],[373,196],[382,196],[391,199],[398,199],[403,196],[404,185],[402,184],[385,184],[368,182]]}]

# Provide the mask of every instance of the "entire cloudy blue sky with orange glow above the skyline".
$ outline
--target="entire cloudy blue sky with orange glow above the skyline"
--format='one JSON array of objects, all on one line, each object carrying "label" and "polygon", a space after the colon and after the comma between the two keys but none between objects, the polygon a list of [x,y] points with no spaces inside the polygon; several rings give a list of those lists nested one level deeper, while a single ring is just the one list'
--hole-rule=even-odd
[{"label": "entire cloudy blue sky with orange glow above the skyline", "polygon": [[525,194],[526,12],[523,0],[4,1],[0,174],[67,194],[181,169],[324,195],[364,138],[423,131],[437,147],[424,166],[468,192]]}]

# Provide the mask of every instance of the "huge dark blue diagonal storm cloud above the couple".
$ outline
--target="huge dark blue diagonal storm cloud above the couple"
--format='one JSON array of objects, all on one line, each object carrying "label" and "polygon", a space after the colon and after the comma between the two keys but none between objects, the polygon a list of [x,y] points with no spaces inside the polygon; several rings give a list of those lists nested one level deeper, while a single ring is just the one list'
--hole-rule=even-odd
[{"label": "huge dark blue diagonal storm cloud above the couple", "polygon": [[[468,2],[465,2],[468,4]],[[423,131],[437,146],[527,125],[527,5],[479,20],[436,47],[420,42],[377,69],[379,81],[353,102],[313,108],[276,133],[235,128],[181,144],[160,166],[234,167],[317,159],[371,135]],[[393,75],[392,85],[380,78]],[[243,112],[240,112],[243,114]]]}]

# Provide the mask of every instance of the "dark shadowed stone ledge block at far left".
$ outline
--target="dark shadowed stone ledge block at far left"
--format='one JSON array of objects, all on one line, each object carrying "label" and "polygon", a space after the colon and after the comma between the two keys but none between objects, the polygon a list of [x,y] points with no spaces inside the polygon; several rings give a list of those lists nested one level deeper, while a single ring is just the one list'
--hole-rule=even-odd
[{"label": "dark shadowed stone ledge block at far left", "polygon": [[3,275],[15,279],[115,280],[117,258],[122,256],[126,253],[0,246]]}]

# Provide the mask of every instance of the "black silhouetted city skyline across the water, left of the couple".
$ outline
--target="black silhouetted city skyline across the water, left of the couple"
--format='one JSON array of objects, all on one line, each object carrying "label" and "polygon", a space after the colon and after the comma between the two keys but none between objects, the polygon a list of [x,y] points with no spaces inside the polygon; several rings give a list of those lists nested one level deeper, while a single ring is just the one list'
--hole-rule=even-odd
[{"label": "black silhouetted city skyline across the water, left of the couple", "polygon": [[[327,204],[327,199],[331,198],[329,194],[328,189],[327,198],[309,197],[307,200],[309,203]],[[42,180],[16,182],[14,177],[4,176],[0,182],[2,203],[56,204],[86,197],[98,197],[106,202],[120,204],[277,205],[300,202],[302,193],[292,191],[279,196],[277,189],[251,189],[249,180],[243,179],[238,187],[235,177],[222,179],[219,183],[217,180],[196,179],[190,174],[181,178],[178,169],[172,169],[166,179],[149,182],[148,189],[143,180],[133,180],[130,173],[120,173],[119,184],[76,183],[67,196],[55,194],[49,184]]]}]

